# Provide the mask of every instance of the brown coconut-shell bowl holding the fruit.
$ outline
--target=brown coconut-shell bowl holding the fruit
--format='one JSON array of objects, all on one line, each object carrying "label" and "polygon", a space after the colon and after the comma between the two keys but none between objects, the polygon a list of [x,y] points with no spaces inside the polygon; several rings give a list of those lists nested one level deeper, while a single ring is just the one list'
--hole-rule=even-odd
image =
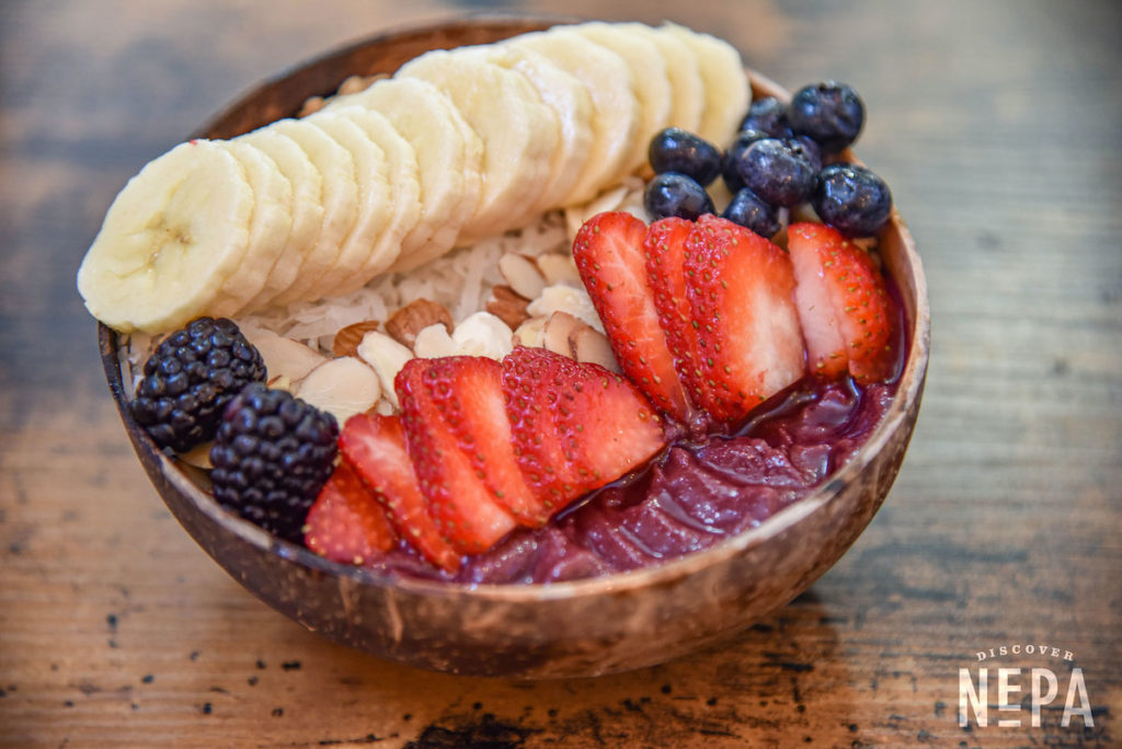
[{"label": "brown coconut-shell bowl holding the fruit", "polygon": [[[495,41],[552,22],[471,18],[381,35],[266,82],[197,135],[232,137],[292,115],[348,75],[393,73],[427,49]],[[749,75],[755,96],[788,96]],[[422,668],[594,676],[669,660],[785,605],[845,553],[884,501],[919,410],[930,313],[923,270],[898,214],[879,241],[905,307],[909,350],[895,398],[859,452],[755,528],[660,566],[583,581],[465,586],[397,579],[276,540],[219,507],[201,472],[159,451],[132,419],[127,342],[101,325],[100,350],[129,438],[167,507],[215,562],[277,611],[343,645]]]}]

